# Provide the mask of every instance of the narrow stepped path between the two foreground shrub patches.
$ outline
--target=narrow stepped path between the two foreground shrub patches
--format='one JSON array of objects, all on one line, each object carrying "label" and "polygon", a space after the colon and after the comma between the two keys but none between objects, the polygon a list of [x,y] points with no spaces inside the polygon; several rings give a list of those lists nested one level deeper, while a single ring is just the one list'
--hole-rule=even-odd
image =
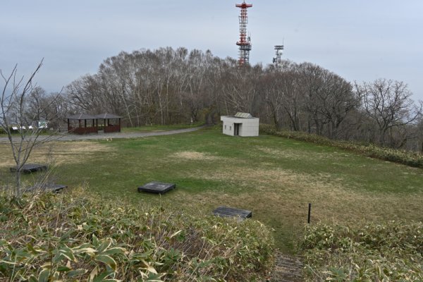
[{"label": "narrow stepped path between the two foreground shrub patches", "polygon": [[302,262],[298,257],[290,257],[276,253],[274,269],[269,282],[302,282]]}]

